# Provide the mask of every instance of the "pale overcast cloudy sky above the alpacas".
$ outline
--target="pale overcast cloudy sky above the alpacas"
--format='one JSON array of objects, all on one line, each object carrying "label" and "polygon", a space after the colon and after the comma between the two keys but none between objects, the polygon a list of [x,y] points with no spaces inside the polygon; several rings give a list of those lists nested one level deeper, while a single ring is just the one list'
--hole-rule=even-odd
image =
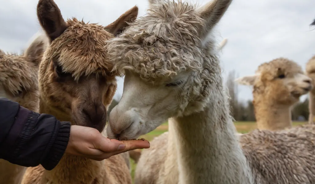
[{"label": "pale overcast cloudy sky above the alpacas", "polygon": [[[0,6],[0,48],[20,53],[40,26],[37,0],[10,0]],[[188,1],[188,0],[187,0]],[[77,17],[107,25],[137,5],[138,16],[145,15],[147,0],[55,0],[66,18]],[[200,4],[207,0],[192,0]],[[221,52],[223,76],[236,70],[239,76],[254,74],[258,65],[277,57],[287,57],[303,69],[315,54],[314,0],[234,0],[216,27],[218,41],[227,38]],[[251,87],[239,86],[241,100],[252,99]],[[117,97],[123,91],[118,79]],[[306,98],[304,95],[301,99]]]}]

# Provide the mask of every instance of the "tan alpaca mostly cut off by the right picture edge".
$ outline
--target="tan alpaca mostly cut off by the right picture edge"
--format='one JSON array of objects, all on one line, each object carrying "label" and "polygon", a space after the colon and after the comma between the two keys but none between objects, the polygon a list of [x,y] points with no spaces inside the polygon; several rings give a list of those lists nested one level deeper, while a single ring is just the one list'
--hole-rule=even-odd
[{"label": "tan alpaca mostly cut off by the right picture edge", "polygon": [[[306,74],[312,79],[312,84],[315,86],[315,56],[313,56],[306,63]],[[308,117],[308,122],[315,124],[315,88],[309,92],[309,104],[308,108],[310,115]]]}]

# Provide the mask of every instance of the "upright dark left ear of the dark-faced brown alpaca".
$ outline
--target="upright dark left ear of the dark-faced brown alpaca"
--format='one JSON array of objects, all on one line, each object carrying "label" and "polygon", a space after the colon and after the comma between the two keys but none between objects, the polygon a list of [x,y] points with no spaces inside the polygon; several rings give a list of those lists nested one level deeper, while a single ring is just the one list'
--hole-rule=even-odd
[{"label": "upright dark left ear of the dark-faced brown alpaca", "polygon": [[62,18],[60,9],[53,0],[38,1],[37,18],[39,24],[50,38],[50,41],[58,38],[68,27]]}]

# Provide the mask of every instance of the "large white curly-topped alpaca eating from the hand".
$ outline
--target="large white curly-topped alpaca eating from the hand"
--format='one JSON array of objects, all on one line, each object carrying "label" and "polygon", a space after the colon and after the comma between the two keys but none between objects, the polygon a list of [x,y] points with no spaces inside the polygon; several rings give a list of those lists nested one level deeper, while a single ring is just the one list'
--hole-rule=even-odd
[{"label": "large white curly-topped alpaca eating from the hand", "polygon": [[[170,158],[165,165],[177,161],[178,177],[161,168],[156,171],[160,183],[167,182],[166,176],[181,184],[312,183],[312,126],[290,132],[256,130],[240,136],[243,144],[235,136],[215,44],[209,40],[203,47],[231,2],[214,0],[195,8],[152,0],[146,16],[108,41],[108,56],[125,79],[107,135],[135,139],[172,118],[172,138],[167,139],[172,151],[164,153]],[[138,172],[150,172],[160,162]]]}]

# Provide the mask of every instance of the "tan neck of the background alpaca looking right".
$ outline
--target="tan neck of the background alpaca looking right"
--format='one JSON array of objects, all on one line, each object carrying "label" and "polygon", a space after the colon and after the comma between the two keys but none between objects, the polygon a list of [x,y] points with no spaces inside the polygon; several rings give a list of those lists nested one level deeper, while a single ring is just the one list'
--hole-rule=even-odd
[{"label": "tan neck of the background alpaca looking right", "polygon": [[254,108],[258,129],[275,131],[292,127],[290,106],[255,101]]}]

